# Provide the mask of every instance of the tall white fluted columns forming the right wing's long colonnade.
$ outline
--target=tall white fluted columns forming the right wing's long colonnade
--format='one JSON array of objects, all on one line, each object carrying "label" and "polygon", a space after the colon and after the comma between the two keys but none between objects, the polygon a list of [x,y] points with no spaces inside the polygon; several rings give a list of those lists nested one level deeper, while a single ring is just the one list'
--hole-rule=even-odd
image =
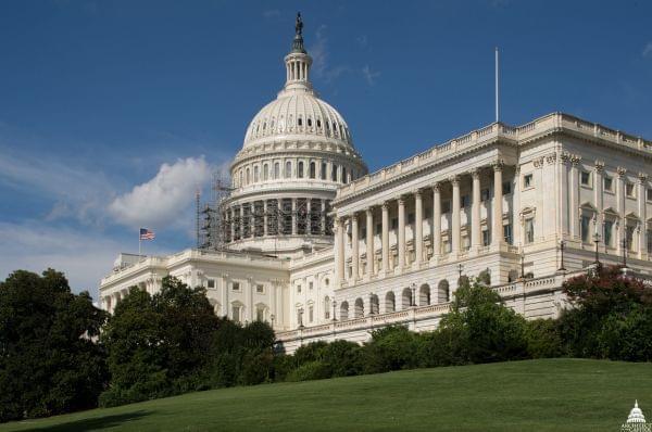
[{"label": "tall white fluted columns forming the right wing's long colonnade", "polygon": [[[481,236],[481,212],[480,212],[480,203],[481,203],[481,181],[480,174],[481,170],[486,169],[486,167],[474,168],[471,171],[453,175],[447,179],[438,179],[430,187],[421,188],[414,191],[410,191],[401,194],[394,200],[388,200],[383,203],[373,203],[364,211],[358,211],[348,215],[340,215],[335,219],[335,232],[336,232],[336,247],[335,247],[335,261],[336,261],[336,279],[338,282],[347,281],[352,279],[353,281],[362,278],[369,278],[378,274],[388,274],[398,271],[403,271],[409,266],[416,266],[417,268],[426,263],[427,261],[436,262],[441,256],[441,244],[442,244],[442,231],[441,231],[441,217],[442,213],[442,196],[441,192],[443,187],[448,188],[450,185],[451,189],[451,224],[449,226],[449,243],[451,245],[450,253],[453,256],[457,256],[463,252],[462,247],[462,218],[461,218],[461,182],[471,175],[472,178],[472,207],[471,207],[471,250],[479,251],[482,244],[482,236]],[[500,244],[504,242],[504,233],[503,233],[503,205],[502,205],[502,195],[503,195],[503,163],[497,162],[491,165],[491,169],[493,171],[493,199],[491,205],[491,249],[500,247]],[[487,186],[486,186],[487,187]],[[428,259],[426,254],[424,253],[424,195],[426,193],[431,193],[432,195],[432,214],[431,214],[431,224],[432,233],[432,255]],[[409,263],[406,261],[406,241],[405,241],[405,228],[406,228],[406,215],[405,207],[406,202],[414,200],[414,252],[415,259],[413,263]],[[375,212],[376,208],[381,207],[381,247],[380,247],[380,261],[378,266],[375,265],[374,254],[375,254],[375,245],[374,245],[374,226],[375,226]],[[389,225],[390,218],[390,208],[396,208],[398,226],[396,228],[396,237],[397,237],[397,263],[393,266],[394,268],[390,268],[389,266],[389,254],[391,245],[389,244],[389,233],[391,227]],[[365,219],[366,226],[366,268],[364,275],[361,274],[361,255],[360,255],[360,224],[361,219]],[[351,275],[346,268],[347,256],[346,256],[346,231],[347,224],[350,224],[351,227]],[[379,268],[376,268],[379,267]]]}]

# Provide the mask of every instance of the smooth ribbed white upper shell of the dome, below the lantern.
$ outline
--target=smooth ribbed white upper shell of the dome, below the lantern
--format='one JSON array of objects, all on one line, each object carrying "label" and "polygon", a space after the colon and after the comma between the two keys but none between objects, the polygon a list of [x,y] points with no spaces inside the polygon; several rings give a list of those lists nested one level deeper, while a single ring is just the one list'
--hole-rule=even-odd
[{"label": "smooth ribbed white upper shell of the dome, below the lantern", "polygon": [[244,135],[244,147],[262,138],[292,135],[324,137],[353,147],[342,116],[312,90],[281,91],[253,117]]}]

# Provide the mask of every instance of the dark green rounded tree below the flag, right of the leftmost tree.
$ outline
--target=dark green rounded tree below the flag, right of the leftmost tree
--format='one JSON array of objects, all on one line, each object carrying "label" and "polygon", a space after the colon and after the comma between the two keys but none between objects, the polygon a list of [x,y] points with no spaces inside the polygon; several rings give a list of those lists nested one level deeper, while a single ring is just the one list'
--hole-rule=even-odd
[{"label": "dark green rounded tree below the flag, right of the leftmost tree", "polygon": [[103,406],[196,390],[220,326],[203,288],[166,277],[151,296],[137,287],[115,307],[101,340],[109,352],[111,389]]}]

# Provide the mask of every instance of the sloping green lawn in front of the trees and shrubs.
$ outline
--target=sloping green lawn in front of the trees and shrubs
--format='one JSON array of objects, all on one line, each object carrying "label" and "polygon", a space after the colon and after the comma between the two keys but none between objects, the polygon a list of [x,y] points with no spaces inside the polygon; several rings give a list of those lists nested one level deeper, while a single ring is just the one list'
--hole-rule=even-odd
[{"label": "sloping green lawn in front of the trees and shrubs", "polygon": [[551,359],[192,393],[0,431],[618,431],[652,364]]}]

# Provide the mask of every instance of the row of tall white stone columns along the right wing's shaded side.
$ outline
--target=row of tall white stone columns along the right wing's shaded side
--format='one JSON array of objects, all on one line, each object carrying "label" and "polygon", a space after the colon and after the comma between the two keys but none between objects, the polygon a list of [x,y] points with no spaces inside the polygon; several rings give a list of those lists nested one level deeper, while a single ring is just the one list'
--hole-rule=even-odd
[{"label": "row of tall white stone columns along the right wing's shaded side", "polygon": [[[493,168],[493,204],[492,204],[492,238],[491,246],[499,247],[503,242],[503,206],[502,206],[502,162],[492,165]],[[473,189],[473,202],[472,202],[472,247],[478,249],[482,245],[481,242],[481,215],[480,215],[480,168],[474,169],[472,173],[472,189]],[[451,202],[451,253],[457,254],[461,252],[461,198],[460,198],[460,176],[455,175],[448,179],[452,187],[452,202]],[[437,181],[431,186],[432,191],[432,244],[434,254],[432,261],[437,259],[440,255],[441,250],[441,181]],[[419,189],[413,192],[415,202],[415,230],[414,230],[414,244],[416,254],[416,265],[419,266],[424,263],[424,232],[423,232],[423,193],[424,190]],[[398,232],[397,232],[397,252],[398,252],[398,268],[399,271],[406,265],[405,261],[405,195],[399,196],[397,200],[397,212],[398,212]],[[390,202],[386,201],[381,204],[381,267],[385,272],[390,271],[389,269],[389,205]],[[380,269],[374,268],[374,207],[375,205],[365,209],[366,218],[366,277],[375,275]],[[344,256],[344,218],[339,217],[335,221],[336,230],[336,279],[341,282],[347,279],[346,274],[346,256]],[[359,250],[359,213],[354,213],[348,216],[351,221],[351,261],[352,261],[352,274],[353,279],[360,278],[360,250]]]}]

